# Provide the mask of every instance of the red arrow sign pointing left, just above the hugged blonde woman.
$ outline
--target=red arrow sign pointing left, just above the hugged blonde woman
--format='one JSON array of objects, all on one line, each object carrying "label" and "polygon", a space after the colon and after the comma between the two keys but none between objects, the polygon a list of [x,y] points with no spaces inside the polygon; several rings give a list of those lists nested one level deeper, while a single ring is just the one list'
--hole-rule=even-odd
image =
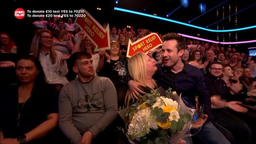
[{"label": "red arrow sign pointing left, just above the hugged blonde woman", "polygon": [[134,43],[131,43],[129,39],[126,57],[130,58],[138,52],[147,54],[150,50],[154,50],[161,45],[162,41],[157,33],[151,33]]}]

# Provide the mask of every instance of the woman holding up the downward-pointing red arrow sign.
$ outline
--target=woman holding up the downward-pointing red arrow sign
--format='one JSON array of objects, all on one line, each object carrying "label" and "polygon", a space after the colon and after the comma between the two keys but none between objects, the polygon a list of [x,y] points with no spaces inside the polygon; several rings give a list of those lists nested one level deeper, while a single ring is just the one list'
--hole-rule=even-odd
[{"label": "woman holding up the downward-pointing red arrow sign", "polygon": [[79,32],[79,37],[75,43],[71,54],[78,51],[86,51],[91,54],[93,60],[94,74],[97,75],[97,71],[101,71],[104,64],[104,53],[105,51],[100,51],[99,53],[94,52],[94,45],[88,37],[84,38],[85,33],[83,31]]}]

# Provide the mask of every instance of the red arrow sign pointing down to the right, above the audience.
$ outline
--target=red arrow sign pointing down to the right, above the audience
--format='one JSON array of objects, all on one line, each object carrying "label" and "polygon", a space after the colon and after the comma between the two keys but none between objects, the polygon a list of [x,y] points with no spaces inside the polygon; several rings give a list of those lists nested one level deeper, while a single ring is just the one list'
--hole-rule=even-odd
[{"label": "red arrow sign pointing down to the right, above the audience", "polygon": [[[104,29],[85,9],[85,17],[77,17],[75,23],[85,31],[87,37],[96,46],[94,51],[110,49],[109,25]],[[81,13],[80,13],[81,14]]]}]

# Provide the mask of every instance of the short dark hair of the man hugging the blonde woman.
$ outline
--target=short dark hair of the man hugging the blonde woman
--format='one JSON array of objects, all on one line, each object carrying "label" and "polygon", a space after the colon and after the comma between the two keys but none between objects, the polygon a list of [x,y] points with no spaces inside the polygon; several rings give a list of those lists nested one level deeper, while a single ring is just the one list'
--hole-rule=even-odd
[{"label": "short dark hair of the man hugging the blonde woman", "polygon": [[182,49],[185,50],[186,48],[186,41],[185,39],[181,36],[181,35],[178,35],[177,33],[167,33],[165,35],[162,36],[162,41],[165,42],[165,41],[169,41],[169,40],[173,40],[175,39],[177,41],[177,53],[179,51],[181,51]]}]

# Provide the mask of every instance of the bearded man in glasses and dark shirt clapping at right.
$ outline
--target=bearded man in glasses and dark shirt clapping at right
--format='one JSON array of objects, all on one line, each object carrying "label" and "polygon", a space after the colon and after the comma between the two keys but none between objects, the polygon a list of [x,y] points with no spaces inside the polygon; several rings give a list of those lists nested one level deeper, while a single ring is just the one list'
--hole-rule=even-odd
[{"label": "bearded man in glasses and dark shirt clapping at right", "polygon": [[[221,63],[213,62],[210,64],[209,68],[210,75],[205,77],[206,87],[211,96],[211,108],[214,122],[230,131],[236,143],[250,143],[251,130],[248,125],[226,111],[226,108],[228,108],[244,113],[247,111],[247,108],[240,106],[239,104],[241,104],[241,102],[228,101],[231,94],[227,86],[225,86],[225,81],[220,78],[222,70],[223,66]],[[231,137],[227,134],[230,133],[224,135]]]}]

